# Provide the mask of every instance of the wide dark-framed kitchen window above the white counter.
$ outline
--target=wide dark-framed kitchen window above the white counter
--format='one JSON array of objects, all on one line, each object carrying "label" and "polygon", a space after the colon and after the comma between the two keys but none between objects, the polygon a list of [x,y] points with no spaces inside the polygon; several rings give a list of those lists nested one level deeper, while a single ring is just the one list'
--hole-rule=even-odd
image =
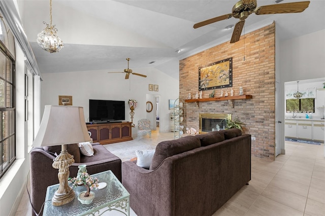
[{"label": "wide dark-framed kitchen window above the white counter", "polygon": [[315,98],[287,99],[286,112],[315,113]]}]

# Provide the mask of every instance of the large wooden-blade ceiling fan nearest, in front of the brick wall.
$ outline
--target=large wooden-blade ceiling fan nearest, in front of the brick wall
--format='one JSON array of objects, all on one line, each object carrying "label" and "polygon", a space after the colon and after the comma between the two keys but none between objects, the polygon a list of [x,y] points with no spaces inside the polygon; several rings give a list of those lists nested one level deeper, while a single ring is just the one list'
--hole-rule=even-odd
[{"label": "large wooden-blade ceiling fan nearest, in front of the brick wall", "polygon": [[306,8],[308,8],[310,1],[305,2],[294,2],[294,3],[284,3],[276,5],[265,5],[257,7],[256,0],[241,0],[237,2],[232,10],[231,14],[225,14],[212,19],[208,19],[199,23],[194,24],[193,28],[199,28],[214,22],[218,22],[225,19],[230,19],[232,17],[240,19],[234,28],[232,38],[230,43],[236,43],[240,39],[240,34],[243,30],[245,19],[252,13],[256,15],[264,14],[287,14],[287,13],[301,13]]}]

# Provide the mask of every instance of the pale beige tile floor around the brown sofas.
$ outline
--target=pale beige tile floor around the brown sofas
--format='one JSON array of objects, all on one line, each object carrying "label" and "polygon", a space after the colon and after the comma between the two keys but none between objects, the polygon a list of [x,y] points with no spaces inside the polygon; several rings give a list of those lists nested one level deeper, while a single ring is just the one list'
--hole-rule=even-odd
[{"label": "pale beige tile floor around the brown sofas", "polygon": [[[107,145],[113,153],[121,145],[155,145],[172,139],[173,133],[152,133],[152,138]],[[125,146],[124,146],[125,147]],[[325,157],[324,145],[285,142],[285,155],[274,162],[252,157],[252,180],[228,202],[217,215],[325,215]],[[30,204],[25,192],[16,216],[30,215]],[[104,215],[117,215],[107,212]],[[118,214],[120,215],[120,214]],[[131,210],[132,216],[135,216]],[[151,215],[150,215],[151,216]]]}]

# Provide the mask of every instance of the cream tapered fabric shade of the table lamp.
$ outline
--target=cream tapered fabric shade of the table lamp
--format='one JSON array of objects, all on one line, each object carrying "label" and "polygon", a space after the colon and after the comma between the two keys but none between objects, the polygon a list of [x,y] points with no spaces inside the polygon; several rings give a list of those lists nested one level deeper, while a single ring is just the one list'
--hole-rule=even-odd
[{"label": "cream tapered fabric shade of the table lamp", "polygon": [[34,147],[90,141],[83,107],[46,105]]}]

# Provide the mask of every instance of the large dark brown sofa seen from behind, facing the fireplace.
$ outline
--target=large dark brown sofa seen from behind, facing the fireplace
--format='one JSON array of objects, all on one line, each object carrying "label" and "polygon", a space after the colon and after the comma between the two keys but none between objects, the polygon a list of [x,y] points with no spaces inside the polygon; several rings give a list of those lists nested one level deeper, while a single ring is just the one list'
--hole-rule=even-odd
[{"label": "large dark brown sofa seen from behind, facing the fireplace", "polygon": [[137,215],[212,215],[251,179],[251,135],[213,131],[158,143],[150,169],[122,163]]}]

